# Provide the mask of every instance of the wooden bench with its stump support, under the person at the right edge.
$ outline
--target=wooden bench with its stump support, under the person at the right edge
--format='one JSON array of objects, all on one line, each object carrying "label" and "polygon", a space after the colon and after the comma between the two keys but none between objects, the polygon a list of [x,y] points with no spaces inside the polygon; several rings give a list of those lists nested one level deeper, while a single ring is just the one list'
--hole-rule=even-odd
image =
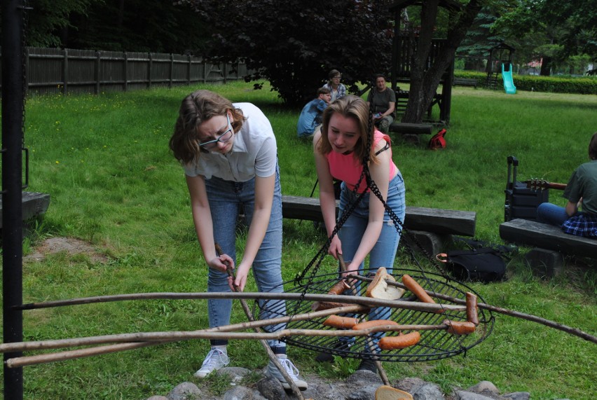
[{"label": "wooden bench with its stump support, under the person at the right edge", "polygon": [[597,238],[569,235],[547,223],[512,219],[500,224],[500,237],[506,242],[533,247],[525,260],[540,276],[562,273],[564,254],[597,258]]}]

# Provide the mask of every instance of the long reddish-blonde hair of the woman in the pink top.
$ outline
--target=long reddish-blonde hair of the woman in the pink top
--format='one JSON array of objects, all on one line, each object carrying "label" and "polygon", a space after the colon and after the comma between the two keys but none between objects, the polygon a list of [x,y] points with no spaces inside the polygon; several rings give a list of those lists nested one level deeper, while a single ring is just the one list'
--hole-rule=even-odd
[{"label": "long reddish-blonde hair of the woman in the pink top", "polygon": [[[345,118],[352,118],[357,122],[360,137],[355,144],[355,150],[352,154],[355,158],[362,161],[367,151],[367,141],[369,140],[369,136],[373,137],[373,124],[369,123],[369,106],[363,99],[355,95],[348,95],[341,99],[337,99],[335,102],[329,104],[324,110],[322,137],[319,143],[317,143],[317,151],[323,155],[331,152],[331,144],[329,143],[327,132],[329,129],[329,120],[334,113],[339,113]],[[371,135],[368,135],[369,132],[371,132]],[[378,162],[373,144],[371,144],[371,149],[369,151],[369,160],[373,161],[373,163]]]}]

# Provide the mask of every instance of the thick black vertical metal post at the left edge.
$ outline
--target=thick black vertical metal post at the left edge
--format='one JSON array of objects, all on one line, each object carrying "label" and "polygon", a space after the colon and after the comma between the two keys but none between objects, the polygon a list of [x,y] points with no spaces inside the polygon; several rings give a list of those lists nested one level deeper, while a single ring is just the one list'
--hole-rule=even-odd
[{"label": "thick black vertical metal post at the left edge", "polygon": [[[22,118],[23,4],[1,1],[2,10],[2,294],[4,343],[22,342]],[[4,361],[21,352],[4,353]],[[4,365],[4,399],[22,400],[22,368]]]}]

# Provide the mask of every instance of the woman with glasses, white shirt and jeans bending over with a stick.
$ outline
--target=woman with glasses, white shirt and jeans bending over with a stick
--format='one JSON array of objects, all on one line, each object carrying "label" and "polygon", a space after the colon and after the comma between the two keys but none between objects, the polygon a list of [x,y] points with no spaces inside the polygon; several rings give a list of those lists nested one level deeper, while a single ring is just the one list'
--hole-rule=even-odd
[{"label": "woman with glasses, white shirt and jeans bending over with a stick", "polygon": [[[184,167],[193,222],[209,267],[207,291],[231,291],[233,286],[242,291],[251,268],[259,291],[284,291],[280,170],[268,118],[253,104],[233,104],[217,93],[197,90],[182,100],[170,149]],[[249,233],[245,254],[232,282],[226,263],[235,265],[236,221],[241,206]],[[216,243],[224,254],[217,254]],[[231,309],[231,300],[207,301],[210,327],[230,324]],[[270,301],[261,317],[282,315],[286,315],[284,301]],[[285,324],[266,327],[269,331],[284,328]],[[210,342],[212,348],[195,373],[197,378],[205,378],[228,365],[228,340]],[[268,340],[268,344],[296,386],[306,389],[307,382],[301,380],[299,371],[286,356],[286,343]],[[266,374],[290,388],[272,361]]]}]

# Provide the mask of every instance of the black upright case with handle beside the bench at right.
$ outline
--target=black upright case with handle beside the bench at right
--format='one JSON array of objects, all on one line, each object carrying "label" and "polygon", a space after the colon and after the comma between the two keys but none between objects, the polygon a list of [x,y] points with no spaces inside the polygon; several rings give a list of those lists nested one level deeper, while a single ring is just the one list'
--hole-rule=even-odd
[{"label": "black upright case with handle beside the bench at right", "polygon": [[519,160],[514,156],[509,156],[504,221],[516,218],[535,221],[537,206],[542,202],[549,202],[549,191],[535,191],[527,188],[524,182],[516,181],[518,166]]}]

